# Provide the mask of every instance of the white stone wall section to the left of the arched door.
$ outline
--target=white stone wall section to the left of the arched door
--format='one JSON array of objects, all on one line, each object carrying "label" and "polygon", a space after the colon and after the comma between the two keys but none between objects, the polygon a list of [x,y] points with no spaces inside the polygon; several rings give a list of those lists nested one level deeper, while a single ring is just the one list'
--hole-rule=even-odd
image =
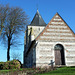
[{"label": "white stone wall section to the left of the arched door", "polygon": [[53,44],[50,42],[38,42],[36,47],[36,67],[49,66],[54,61]]}]

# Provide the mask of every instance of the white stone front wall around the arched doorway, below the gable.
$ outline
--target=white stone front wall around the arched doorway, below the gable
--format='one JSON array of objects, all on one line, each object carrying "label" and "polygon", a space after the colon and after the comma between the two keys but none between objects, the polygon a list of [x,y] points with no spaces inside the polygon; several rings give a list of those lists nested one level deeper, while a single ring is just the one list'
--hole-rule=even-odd
[{"label": "white stone front wall around the arched doorway, below the gable", "polygon": [[[55,62],[54,46],[61,44],[64,47],[65,65],[75,66],[75,43],[74,42],[40,42],[36,47],[36,67],[49,66],[51,60]],[[54,63],[55,65],[55,63]]]}]

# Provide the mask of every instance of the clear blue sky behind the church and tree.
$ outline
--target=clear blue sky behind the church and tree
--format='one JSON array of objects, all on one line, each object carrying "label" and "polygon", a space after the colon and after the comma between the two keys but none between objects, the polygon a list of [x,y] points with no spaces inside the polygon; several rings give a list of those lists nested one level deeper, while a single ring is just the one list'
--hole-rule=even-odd
[{"label": "clear blue sky behind the church and tree", "polygon": [[[29,16],[30,21],[33,19],[37,6],[38,10],[46,23],[48,23],[52,17],[58,12],[60,16],[66,21],[69,27],[75,32],[75,0],[0,0],[1,4],[9,4],[11,7],[20,7]],[[24,36],[21,38],[22,42]],[[0,61],[6,61],[6,50],[2,46],[0,47]],[[23,50],[22,45],[19,50],[21,53],[21,61],[23,62]],[[16,52],[17,52],[16,51]],[[13,49],[11,50],[11,53]]]}]

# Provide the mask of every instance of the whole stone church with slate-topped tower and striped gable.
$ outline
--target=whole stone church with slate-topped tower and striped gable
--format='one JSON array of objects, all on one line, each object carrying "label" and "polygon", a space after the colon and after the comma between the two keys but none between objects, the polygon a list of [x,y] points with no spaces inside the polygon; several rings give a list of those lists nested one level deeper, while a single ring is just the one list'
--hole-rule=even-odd
[{"label": "whole stone church with slate-topped tower and striped gable", "polygon": [[37,10],[24,42],[24,67],[75,66],[75,34],[58,13],[46,24]]}]

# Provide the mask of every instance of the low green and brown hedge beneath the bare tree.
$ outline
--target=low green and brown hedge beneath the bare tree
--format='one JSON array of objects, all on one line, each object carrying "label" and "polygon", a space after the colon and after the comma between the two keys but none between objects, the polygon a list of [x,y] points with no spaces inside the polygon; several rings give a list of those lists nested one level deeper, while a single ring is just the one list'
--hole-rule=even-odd
[{"label": "low green and brown hedge beneath the bare tree", "polygon": [[12,60],[7,62],[0,62],[0,70],[5,69],[20,69],[21,63],[18,60]]}]

